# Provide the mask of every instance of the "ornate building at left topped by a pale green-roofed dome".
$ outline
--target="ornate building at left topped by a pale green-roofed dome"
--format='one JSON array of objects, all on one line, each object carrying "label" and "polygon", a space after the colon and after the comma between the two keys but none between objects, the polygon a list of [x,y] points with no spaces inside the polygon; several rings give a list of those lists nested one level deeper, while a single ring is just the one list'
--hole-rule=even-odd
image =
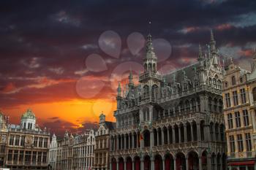
[{"label": "ornate building at left topped by a pale green-roofed dome", "polygon": [[20,125],[8,125],[7,160],[10,169],[48,169],[50,134],[36,124],[36,116],[28,109]]}]

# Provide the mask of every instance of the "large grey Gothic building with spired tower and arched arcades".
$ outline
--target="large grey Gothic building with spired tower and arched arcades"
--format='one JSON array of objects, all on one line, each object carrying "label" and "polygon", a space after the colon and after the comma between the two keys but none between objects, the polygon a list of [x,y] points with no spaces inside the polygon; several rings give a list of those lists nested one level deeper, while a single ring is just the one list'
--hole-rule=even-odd
[{"label": "large grey Gothic building with spired tower and arched arcades", "polygon": [[222,75],[214,35],[207,55],[169,74],[157,72],[151,35],[144,72],[128,90],[118,85],[116,129],[110,134],[110,169],[226,169]]}]

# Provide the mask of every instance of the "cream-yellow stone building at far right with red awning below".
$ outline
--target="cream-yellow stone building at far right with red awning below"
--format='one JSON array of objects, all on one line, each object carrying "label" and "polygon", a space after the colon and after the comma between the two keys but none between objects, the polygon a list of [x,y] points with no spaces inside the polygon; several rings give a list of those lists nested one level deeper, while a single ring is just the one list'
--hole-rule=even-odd
[{"label": "cream-yellow stone building at far right with red awning below", "polygon": [[223,81],[227,163],[232,170],[251,170],[255,166],[256,53],[252,73],[225,61]]}]

